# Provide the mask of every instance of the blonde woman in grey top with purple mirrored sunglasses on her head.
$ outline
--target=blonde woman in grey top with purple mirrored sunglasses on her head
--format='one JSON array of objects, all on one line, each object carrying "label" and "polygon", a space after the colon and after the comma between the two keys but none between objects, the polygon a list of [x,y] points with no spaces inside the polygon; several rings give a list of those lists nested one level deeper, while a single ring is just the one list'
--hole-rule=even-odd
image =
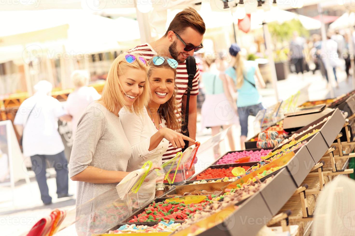
[{"label": "blonde woman in grey top with purple mirrored sunglasses on her head", "polygon": [[[134,60],[133,60],[134,58]],[[149,98],[144,58],[118,56],[108,73],[102,97],[91,103],[78,121],[69,176],[77,182],[76,205],[114,188],[127,174],[132,150],[118,112],[139,114]]]}]

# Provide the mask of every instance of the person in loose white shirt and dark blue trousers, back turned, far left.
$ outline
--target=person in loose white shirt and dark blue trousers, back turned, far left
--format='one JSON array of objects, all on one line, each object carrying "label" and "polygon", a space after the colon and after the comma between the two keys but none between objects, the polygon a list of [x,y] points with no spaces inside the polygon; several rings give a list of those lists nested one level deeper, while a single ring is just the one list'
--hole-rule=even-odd
[{"label": "person in loose white shirt and dark blue trousers, back turned, far left", "polygon": [[60,102],[49,96],[50,82],[42,80],[35,86],[36,93],[23,101],[13,121],[17,132],[22,135],[23,155],[31,157],[32,170],[44,205],[52,202],[46,179],[46,160],[57,173],[58,198],[68,194],[68,161],[64,155],[64,145],[58,132],[58,119],[70,121]]}]

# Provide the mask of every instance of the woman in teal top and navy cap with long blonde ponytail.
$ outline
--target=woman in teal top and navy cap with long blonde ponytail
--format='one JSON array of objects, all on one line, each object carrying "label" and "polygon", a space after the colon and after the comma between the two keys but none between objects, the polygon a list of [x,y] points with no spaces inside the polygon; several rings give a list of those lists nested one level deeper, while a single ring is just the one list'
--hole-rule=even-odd
[{"label": "woman in teal top and navy cap with long blonde ponytail", "polygon": [[239,116],[241,136],[241,149],[245,149],[245,140],[248,134],[248,117],[256,114],[263,109],[261,104],[261,96],[255,85],[255,78],[259,85],[264,88],[265,83],[261,76],[258,65],[255,61],[246,61],[241,55],[240,47],[237,44],[232,44],[229,48],[229,53],[232,56],[232,67],[226,69],[225,74],[230,78],[234,92],[238,92],[237,111]]}]

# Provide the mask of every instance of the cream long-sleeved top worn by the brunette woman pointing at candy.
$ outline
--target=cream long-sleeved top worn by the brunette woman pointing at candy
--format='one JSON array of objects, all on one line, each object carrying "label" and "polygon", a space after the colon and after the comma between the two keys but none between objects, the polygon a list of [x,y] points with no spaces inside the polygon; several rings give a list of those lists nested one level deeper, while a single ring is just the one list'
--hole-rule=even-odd
[{"label": "cream long-sleeved top worn by the brunette woman pointing at candy", "polygon": [[[127,171],[141,168],[146,161],[162,166],[163,154],[168,150],[169,141],[163,138],[157,148],[148,151],[151,137],[158,130],[149,117],[147,109],[143,109],[142,114],[137,115],[122,108],[119,115],[123,130],[132,146],[132,156],[128,162]],[[165,127],[164,123],[162,118],[163,127]]]}]

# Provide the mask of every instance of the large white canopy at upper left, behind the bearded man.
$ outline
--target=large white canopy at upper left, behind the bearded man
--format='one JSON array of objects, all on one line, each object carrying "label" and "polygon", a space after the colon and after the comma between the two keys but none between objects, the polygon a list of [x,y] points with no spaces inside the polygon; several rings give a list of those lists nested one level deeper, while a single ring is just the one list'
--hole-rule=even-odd
[{"label": "large white canopy at upper left, behind the bearded man", "polygon": [[6,19],[15,20],[0,26],[0,63],[22,58],[24,48],[34,44],[44,51],[63,53],[64,46],[71,54],[87,54],[125,49],[140,39],[136,20],[114,20],[83,10],[1,12],[0,21]]}]

